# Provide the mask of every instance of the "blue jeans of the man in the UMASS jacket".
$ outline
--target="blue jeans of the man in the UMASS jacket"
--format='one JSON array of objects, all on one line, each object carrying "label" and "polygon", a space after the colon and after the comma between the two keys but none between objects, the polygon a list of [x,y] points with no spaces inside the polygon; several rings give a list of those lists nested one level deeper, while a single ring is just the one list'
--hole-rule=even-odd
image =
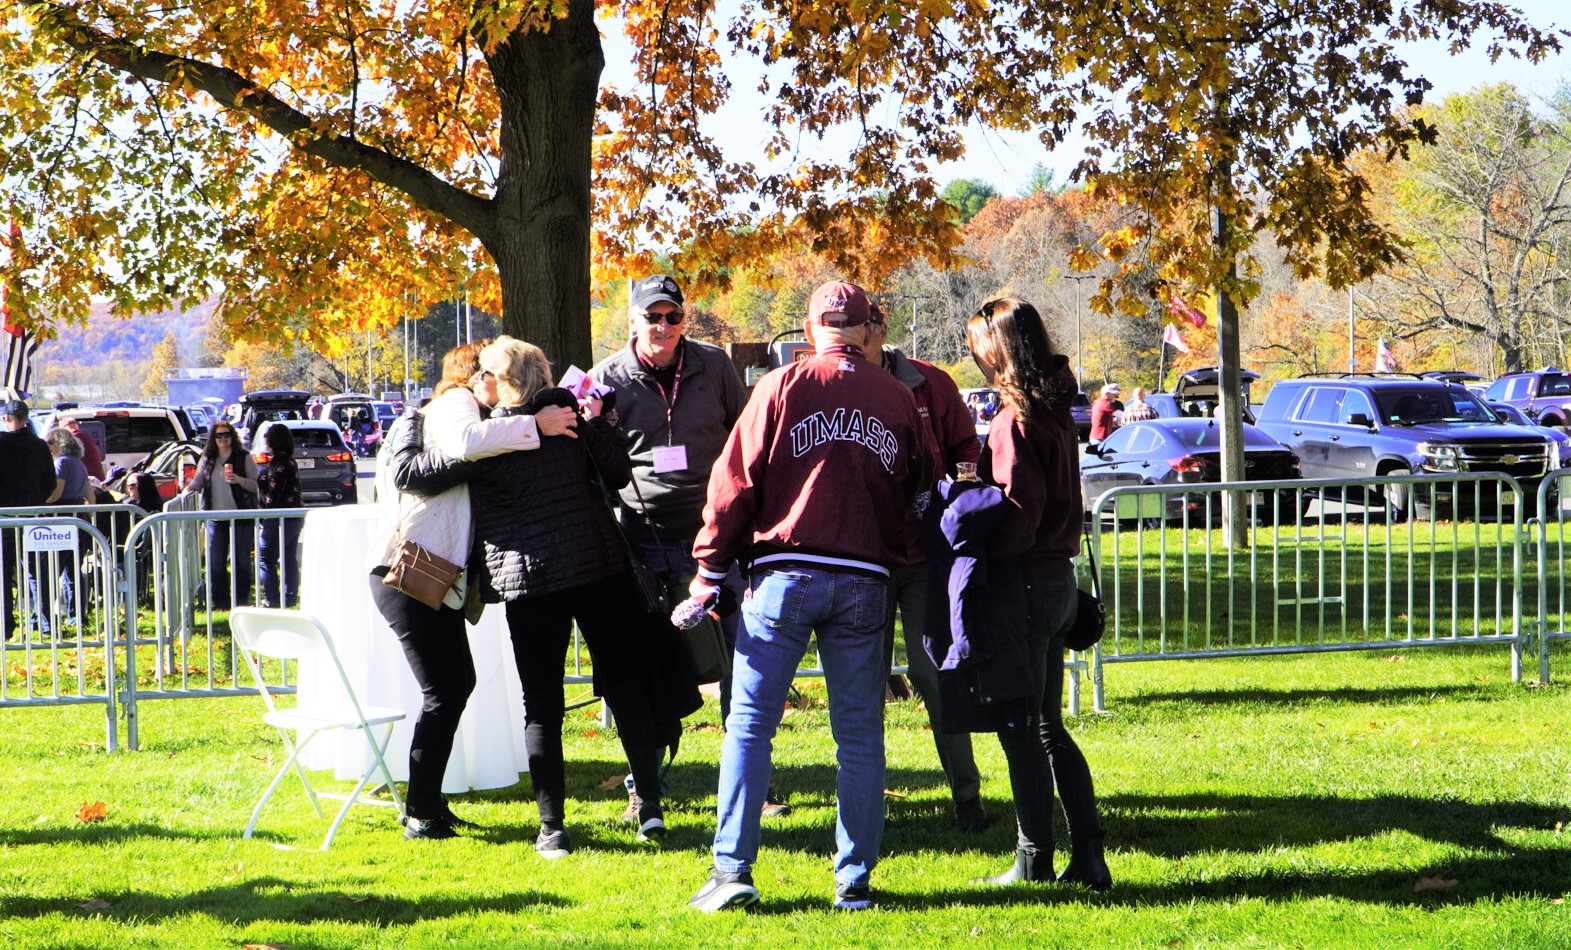
[{"label": "blue jeans of the man in the UMASS jacket", "polygon": [[867,884],[883,843],[883,691],[889,614],[883,578],[806,565],[765,565],[742,605],[731,714],[720,752],[715,870],[751,871],[770,787],[770,757],[792,678],[817,634],[834,733],[834,879]]}]

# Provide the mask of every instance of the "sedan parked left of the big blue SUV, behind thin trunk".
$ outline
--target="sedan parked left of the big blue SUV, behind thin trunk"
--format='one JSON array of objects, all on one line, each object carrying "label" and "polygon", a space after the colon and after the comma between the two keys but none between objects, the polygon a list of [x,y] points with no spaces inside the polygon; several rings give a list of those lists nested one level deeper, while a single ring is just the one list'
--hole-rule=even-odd
[{"label": "sedan parked left of the big blue SUV, behind thin trunk", "polygon": [[[1302,477],[1298,455],[1254,426],[1244,424],[1244,477],[1282,480]],[[1081,490],[1087,515],[1103,495],[1125,485],[1181,485],[1222,480],[1222,427],[1216,419],[1150,419],[1131,422],[1108,437],[1081,457]],[[1260,495],[1260,493],[1257,493]],[[1166,518],[1183,523],[1221,517],[1221,498],[1214,493],[1167,495],[1166,510],[1125,512],[1120,517]],[[1282,491],[1277,498],[1255,498],[1260,521],[1291,521],[1304,507],[1301,491]],[[1260,504],[1265,502],[1265,504]],[[1131,502],[1134,504],[1134,502]]]}]

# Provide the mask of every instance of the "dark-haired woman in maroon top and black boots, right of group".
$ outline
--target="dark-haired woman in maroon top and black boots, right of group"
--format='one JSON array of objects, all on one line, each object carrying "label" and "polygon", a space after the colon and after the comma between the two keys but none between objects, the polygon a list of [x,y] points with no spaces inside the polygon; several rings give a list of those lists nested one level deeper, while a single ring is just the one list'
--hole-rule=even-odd
[{"label": "dark-haired woman in maroon top and black boots, right of group", "polygon": [[1002,488],[1009,509],[993,532],[991,561],[1013,559],[1026,579],[1031,666],[1042,692],[1037,735],[999,733],[1015,796],[1015,865],[988,884],[1053,879],[1053,787],[1064,799],[1070,864],[1059,881],[1104,890],[1101,821],[1090,766],[1064,729],[1064,634],[1075,623],[1071,557],[1079,550],[1079,443],[1070,405],[1078,391],[1068,358],[1059,355],[1042,314],[1024,300],[982,305],[966,323],[971,356],[1004,408],[993,418],[977,465],[983,482]]}]

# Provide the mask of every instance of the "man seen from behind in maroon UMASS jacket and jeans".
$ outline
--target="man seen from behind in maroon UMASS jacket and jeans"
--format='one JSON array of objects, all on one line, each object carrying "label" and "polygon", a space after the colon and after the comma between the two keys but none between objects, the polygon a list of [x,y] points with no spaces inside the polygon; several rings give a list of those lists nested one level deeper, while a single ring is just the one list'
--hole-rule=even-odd
[{"label": "man seen from behind in maroon UMASS jacket and jeans", "polygon": [[764,377],[715,463],[691,594],[749,567],[720,757],[715,873],[702,911],[759,900],[753,862],[770,747],[814,634],[837,744],[834,906],[872,906],[883,842],[883,633],[889,572],[905,562],[911,501],[933,480],[911,391],[866,353],[867,294],[831,281],[807,308],[817,353]]}]

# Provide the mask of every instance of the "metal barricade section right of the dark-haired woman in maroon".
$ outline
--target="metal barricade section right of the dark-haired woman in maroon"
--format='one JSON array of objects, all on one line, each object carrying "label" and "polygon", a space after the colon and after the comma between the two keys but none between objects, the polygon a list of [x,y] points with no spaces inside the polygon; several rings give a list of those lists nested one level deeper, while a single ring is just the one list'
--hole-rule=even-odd
[{"label": "metal barricade section right of the dark-haired woman in maroon", "polygon": [[[1108,664],[1150,660],[1502,644],[1519,680],[1533,498],[1503,474],[1114,488],[1092,512],[1109,611],[1095,707]],[[1241,546],[1219,524],[1230,504]]]}]

